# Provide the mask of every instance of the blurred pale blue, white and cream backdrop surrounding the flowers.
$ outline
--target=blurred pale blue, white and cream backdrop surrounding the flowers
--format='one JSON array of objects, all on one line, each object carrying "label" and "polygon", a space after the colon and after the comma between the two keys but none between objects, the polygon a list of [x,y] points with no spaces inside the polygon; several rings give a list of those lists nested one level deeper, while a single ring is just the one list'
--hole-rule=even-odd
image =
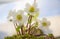
[{"label": "blurred pale blue, white and cream backdrop surrounding the flowers", "polygon": [[[34,0],[0,0],[0,39],[15,34],[14,26],[7,20],[10,10],[24,9],[26,3]],[[40,9],[39,18],[46,17],[51,21],[50,29],[55,37],[60,36],[60,0],[37,0]]]}]

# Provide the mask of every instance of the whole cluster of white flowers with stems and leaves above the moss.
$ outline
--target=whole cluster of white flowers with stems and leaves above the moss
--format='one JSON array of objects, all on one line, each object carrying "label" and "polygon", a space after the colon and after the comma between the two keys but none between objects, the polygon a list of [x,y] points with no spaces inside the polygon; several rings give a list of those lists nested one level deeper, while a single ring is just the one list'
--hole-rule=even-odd
[{"label": "whole cluster of white flowers with stems and leaves above the moss", "polygon": [[40,20],[38,16],[39,9],[37,8],[37,3],[34,2],[32,5],[27,3],[24,10],[10,11],[8,19],[13,22],[17,35],[41,35],[42,33],[46,35],[52,34],[49,29],[50,22],[47,21],[46,18]]}]

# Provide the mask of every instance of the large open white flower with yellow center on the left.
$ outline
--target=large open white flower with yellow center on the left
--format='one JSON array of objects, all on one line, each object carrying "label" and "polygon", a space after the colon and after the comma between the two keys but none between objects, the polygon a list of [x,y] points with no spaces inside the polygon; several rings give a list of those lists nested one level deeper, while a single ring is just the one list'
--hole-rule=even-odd
[{"label": "large open white flower with yellow center on the left", "polygon": [[[12,11],[12,12],[15,12],[15,11]],[[16,22],[20,25],[24,24],[27,21],[27,17],[24,15],[24,11],[22,10],[9,14],[9,18],[10,17],[12,17],[13,23]]]}]

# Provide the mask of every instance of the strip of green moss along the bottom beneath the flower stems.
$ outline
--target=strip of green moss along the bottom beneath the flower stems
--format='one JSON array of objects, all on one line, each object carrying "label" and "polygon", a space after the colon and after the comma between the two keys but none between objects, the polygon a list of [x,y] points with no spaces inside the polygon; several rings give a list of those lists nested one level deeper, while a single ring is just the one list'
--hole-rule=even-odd
[{"label": "strip of green moss along the bottom beneath the flower stems", "polygon": [[45,37],[43,36],[33,36],[33,35],[29,35],[29,34],[25,34],[25,35],[13,35],[10,37],[5,37],[5,39],[44,39]]}]

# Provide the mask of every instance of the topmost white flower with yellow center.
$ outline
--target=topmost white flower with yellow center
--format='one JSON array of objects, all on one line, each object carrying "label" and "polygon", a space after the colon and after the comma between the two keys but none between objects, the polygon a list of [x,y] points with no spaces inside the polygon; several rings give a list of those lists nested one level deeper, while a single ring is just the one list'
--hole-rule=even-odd
[{"label": "topmost white flower with yellow center", "polygon": [[39,12],[39,9],[37,8],[37,6],[35,4],[30,5],[30,4],[27,3],[26,4],[25,11],[27,13],[29,13],[30,15],[34,15],[35,13],[38,13]]}]

